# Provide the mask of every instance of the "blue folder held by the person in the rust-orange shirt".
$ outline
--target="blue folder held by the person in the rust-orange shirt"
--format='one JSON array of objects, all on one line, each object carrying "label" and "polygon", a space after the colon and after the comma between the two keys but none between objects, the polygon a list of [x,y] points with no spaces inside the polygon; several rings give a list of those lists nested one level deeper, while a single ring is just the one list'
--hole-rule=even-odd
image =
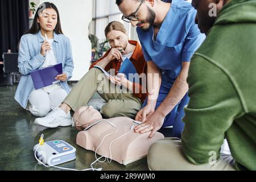
[{"label": "blue folder held by the person in the rust-orange shirt", "polygon": [[[123,73],[126,75],[126,79],[130,80],[131,82],[138,82],[137,79],[131,79],[129,78],[129,73],[134,75],[135,73],[137,73],[136,68],[134,67],[133,63],[131,63],[131,60],[126,58],[125,60],[123,60],[123,63],[121,65],[121,68],[119,69],[118,73]],[[131,75],[131,76],[132,76]]]}]

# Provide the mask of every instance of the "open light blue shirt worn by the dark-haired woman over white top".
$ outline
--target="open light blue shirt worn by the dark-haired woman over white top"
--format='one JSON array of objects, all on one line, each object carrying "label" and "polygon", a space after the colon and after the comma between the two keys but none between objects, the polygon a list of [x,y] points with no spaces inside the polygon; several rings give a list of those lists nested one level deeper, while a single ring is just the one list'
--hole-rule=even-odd
[{"label": "open light blue shirt worn by the dark-haired woman over white top", "polygon": [[[63,73],[67,73],[68,80],[72,77],[73,56],[71,42],[62,34],[53,32],[52,49],[55,52],[57,63],[62,63]],[[30,73],[43,67],[45,57],[41,55],[40,50],[44,38],[39,31],[37,34],[26,34],[20,39],[18,67],[22,74],[18,88],[15,93],[15,100],[26,109],[28,96],[35,89]],[[67,81],[60,82],[61,88],[69,93]]]}]

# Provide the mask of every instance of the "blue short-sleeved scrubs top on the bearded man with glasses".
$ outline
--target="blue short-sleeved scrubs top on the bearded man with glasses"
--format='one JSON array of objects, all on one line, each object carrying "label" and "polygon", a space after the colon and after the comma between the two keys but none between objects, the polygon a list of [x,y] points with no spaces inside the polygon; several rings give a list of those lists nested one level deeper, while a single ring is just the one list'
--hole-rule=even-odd
[{"label": "blue short-sleeved scrubs top on the bearded man with glasses", "polygon": [[172,85],[182,69],[182,63],[191,60],[205,35],[195,24],[196,10],[184,0],[172,0],[171,8],[154,40],[154,30],[145,32],[137,27],[146,61],[162,69],[162,84]]}]

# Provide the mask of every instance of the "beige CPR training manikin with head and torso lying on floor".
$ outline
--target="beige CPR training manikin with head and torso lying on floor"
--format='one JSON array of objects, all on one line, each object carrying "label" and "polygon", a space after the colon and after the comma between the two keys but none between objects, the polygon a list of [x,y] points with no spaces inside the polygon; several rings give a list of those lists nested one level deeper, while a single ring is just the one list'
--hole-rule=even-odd
[{"label": "beige CPR training manikin with head and torso lying on floor", "polygon": [[92,106],[77,109],[73,121],[80,130],[76,137],[79,146],[124,165],[144,158],[150,145],[164,138],[158,132],[152,138],[150,133],[135,133],[138,123],[131,118],[102,119]]}]

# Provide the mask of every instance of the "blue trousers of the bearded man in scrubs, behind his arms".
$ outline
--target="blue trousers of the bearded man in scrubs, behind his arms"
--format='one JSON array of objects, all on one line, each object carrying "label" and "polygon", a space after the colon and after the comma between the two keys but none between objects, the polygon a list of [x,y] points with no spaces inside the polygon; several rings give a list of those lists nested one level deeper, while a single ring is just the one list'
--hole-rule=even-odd
[{"label": "blue trousers of the bearded man in scrubs, behind his arms", "polygon": [[[155,110],[159,107],[159,105],[164,101],[168,93],[170,92],[172,84],[167,84],[166,82],[162,82],[159,90],[158,100],[156,101]],[[184,107],[188,104],[189,97],[188,93],[182,98],[182,100],[172,109],[172,111],[167,114],[166,118],[164,118],[164,123],[162,127],[173,126],[171,137],[181,138],[181,132],[184,128],[184,123],[182,122],[182,118],[184,117]],[[142,107],[147,105],[147,99],[144,101]]]}]

